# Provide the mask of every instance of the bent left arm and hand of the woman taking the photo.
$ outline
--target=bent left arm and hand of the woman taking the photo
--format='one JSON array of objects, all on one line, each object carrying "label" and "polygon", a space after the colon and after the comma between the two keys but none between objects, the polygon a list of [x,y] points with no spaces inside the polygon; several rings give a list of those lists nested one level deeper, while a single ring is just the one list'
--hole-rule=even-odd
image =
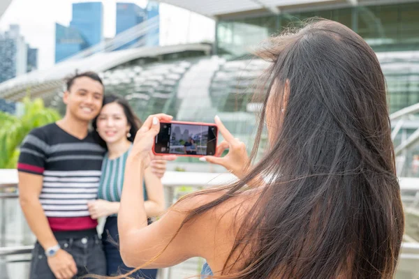
[{"label": "bent left arm and hand of the woman taking the photo", "polygon": [[[205,229],[200,218],[179,229],[186,213],[200,201],[195,198],[189,202],[173,206],[160,220],[147,226],[142,180],[148,166],[149,153],[154,137],[159,133],[159,121],[170,121],[171,116],[156,114],[149,116],[135,136],[133,149],[126,162],[124,187],[118,216],[119,249],[127,266],[159,268],[172,266],[185,259],[204,256],[207,243]],[[204,199],[203,197],[199,197]],[[205,202],[205,201],[204,201]]]}]

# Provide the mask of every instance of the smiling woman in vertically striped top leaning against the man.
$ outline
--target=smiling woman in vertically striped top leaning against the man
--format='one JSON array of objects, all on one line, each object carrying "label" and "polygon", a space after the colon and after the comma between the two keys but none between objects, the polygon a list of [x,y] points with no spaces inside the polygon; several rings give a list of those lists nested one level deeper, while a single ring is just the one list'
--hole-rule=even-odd
[{"label": "smiling woman in vertically striped top leaning against the man", "polygon": [[[117,275],[131,271],[124,265],[117,247],[117,213],[124,183],[126,158],[131,152],[133,140],[141,121],[131,110],[128,102],[116,95],[105,95],[101,112],[93,121],[94,137],[108,152],[102,164],[98,199],[88,203],[91,218],[106,217],[102,234],[105,250],[107,274]],[[154,167],[156,171],[156,167]],[[159,216],[164,211],[163,185],[153,167],[144,172],[144,204],[147,218]],[[157,269],[139,270],[134,273],[138,278],[154,279]]]}]

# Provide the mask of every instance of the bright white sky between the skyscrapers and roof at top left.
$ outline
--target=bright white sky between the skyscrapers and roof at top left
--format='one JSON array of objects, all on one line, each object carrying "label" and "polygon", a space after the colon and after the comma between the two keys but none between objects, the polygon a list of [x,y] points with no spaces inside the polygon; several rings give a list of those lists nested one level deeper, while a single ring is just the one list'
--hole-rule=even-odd
[{"label": "bright white sky between the skyscrapers and roof at top left", "polygon": [[[19,24],[20,33],[27,43],[39,50],[38,68],[50,68],[54,65],[55,22],[68,26],[72,16],[71,4],[77,2],[81,1],[13,0],[0,18],[0,32],[8,30],[10,24]],[[142,8],[147,5],[146,0],[102,0],[105,38],[115,36],[117,2],[136,3]],[[160,32],[162,45],[213,41],[215,24],[214,20],[203,15],[161,3]]]}]

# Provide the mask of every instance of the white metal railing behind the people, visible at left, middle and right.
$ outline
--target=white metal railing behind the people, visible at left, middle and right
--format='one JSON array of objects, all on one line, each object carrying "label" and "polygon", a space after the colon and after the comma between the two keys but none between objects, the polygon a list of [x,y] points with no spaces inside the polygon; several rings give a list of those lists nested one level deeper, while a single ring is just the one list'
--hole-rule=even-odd
[{"label": "white metal railing behind the people, visible at left, middle and right", "polygon": [[[166,206],[170,206],[177,200],[179,196],[182,196],[191,190],[223,185],[233,182],[235,179],[235,176],[231,174],[167,172],[162,179],[164,194],[166,198]],[[413,216],[417,216],[419,218],[419,209],[417,209],[419,204],[419,179],[401,178],[399,181],[406,214],[412,214]],[[0,169],[0,279],[15,278],[8,276],[8,264],[26,264],[24,267],[26,270],[22,272],[24,274],[29,272],[30,257],[28,256],[30,255],[33,246],[6,246],[6,201],[15,200],[15,206],[18,206],[17,197],[18,191],[16,170]],[[25,255],[26,257],[24,257]],[[159,269],[158,278],[171,279],[196,276],[199,274],[199,269],[202,264],[203,259],[193,258],[177,266],[172,266],[166,269]],[[404,243],[402,243],[402,253],[400,255],[397,278],[419,279],[419,239],[417,237],[412,237],[408,234],[405,234],[404,236]]]}]

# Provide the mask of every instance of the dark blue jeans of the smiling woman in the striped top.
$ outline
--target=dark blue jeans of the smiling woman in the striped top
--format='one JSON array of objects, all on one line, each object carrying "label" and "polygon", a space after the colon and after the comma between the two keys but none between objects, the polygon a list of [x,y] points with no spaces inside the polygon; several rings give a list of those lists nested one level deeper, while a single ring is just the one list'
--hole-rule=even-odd
[{"label": "dark blue jeans of the smiling woman in the striped top", "polygon": [[[106,263],[108,266],[108,276],[115,276],[128,273],[133,269],[129,268],[122,262],[116,243],[119,243],[118,236],[118,219],[117,217],[106,218],[105,227],[102,234],[103,249],[105,250]],[[130,278],[156,279],[157,269],[140,269],[131,274]]]}]

